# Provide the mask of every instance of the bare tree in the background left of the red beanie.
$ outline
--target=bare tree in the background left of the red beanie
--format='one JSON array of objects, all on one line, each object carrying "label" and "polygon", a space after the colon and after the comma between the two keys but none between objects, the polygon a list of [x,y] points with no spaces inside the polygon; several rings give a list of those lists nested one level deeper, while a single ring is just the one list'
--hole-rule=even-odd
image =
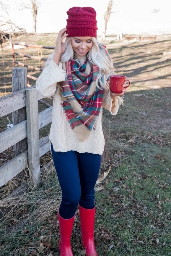
[{"label": "bare tree in the background left of the red beanie", "polygon": [[30,0],[29,4],[22,3],[19,10],[30,9],[33,17],[33,31],[36,32],[38,10],[42,7],[42,1]]}]

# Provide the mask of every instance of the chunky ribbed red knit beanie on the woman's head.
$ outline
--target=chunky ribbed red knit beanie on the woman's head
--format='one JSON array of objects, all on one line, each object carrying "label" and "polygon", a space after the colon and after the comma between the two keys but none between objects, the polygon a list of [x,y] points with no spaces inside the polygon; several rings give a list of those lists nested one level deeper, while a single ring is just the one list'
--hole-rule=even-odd
[{"label": "chunky ribbed red knit beanie on the woman's head", "polygon": [[97,36],[96,12],[92,7],[72,7],[67,12],[67,37]]}]

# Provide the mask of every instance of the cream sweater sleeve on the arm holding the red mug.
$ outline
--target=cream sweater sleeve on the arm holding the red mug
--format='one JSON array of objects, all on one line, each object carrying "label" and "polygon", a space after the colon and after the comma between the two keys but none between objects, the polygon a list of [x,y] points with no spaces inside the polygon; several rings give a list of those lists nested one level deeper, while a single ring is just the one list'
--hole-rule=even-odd
[{"label": "cream sweater sleeve on the arm holding the red mug", "polygon": [[102,107],[108,110],[112,115],[116,115],[121,104],[123,104],[123,98],[116,96],[115,99],[111,99],[109,90],[103,99]]}]

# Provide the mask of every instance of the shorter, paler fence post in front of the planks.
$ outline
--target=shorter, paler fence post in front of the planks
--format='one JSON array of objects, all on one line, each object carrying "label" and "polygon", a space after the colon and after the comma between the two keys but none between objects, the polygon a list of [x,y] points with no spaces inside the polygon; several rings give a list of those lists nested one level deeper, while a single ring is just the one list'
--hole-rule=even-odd
[{"label": "shorter, paler fence post in front of the planks", "polygon": [[38,91],[35,88],[26,91],[26,109],[29,169],[32,173],[32,179],[36,183],[40,176],[40,158]]}]

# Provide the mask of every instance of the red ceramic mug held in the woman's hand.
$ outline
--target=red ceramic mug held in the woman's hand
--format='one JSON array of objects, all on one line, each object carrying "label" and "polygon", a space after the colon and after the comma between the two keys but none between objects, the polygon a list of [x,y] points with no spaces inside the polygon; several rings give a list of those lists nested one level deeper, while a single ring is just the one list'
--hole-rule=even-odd
[{"label": "red ceramic mug held in the woman's hand", "polygon": [[[131,82],[128,79],[125,79],[125,75],[110,75],[110,91],[113,93],[123,93],[123,89],[128,88]],[[128,81],[129,84],[126,87],[122,87],[122,85]]]}]

